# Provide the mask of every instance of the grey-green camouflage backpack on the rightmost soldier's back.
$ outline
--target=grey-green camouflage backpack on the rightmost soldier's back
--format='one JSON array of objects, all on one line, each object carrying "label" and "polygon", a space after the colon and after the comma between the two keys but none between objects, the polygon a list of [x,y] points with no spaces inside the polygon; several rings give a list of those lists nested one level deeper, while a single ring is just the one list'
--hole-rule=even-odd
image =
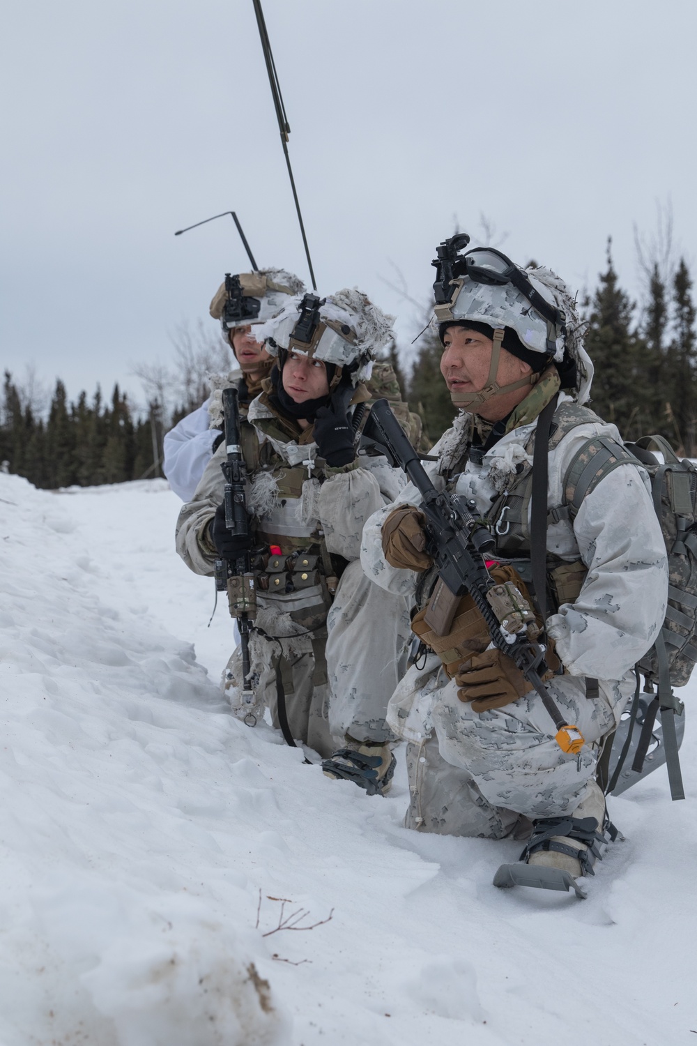
[{"label": "grey-green camouflage backpack on the rightmost soldier's back", "polygon": [[[663,462],[651,449],[663,455]],[[680,460],[659,435],[643,436],[625,444],[624,449],[612,440],[595,437],[586,440],[571,462],[564,493],[573,517],[603,476],[628,459],[641,463],[651,479],[653,505],[668,553],[668,609],[655,643],[635,666],[634,699],[604,747],[599,782],[606,793],[619,795],[665,761],[672,798],[684,799],[678,758],[684,706],[673,687],[686,685],[697,662],[697,468],[688,459]],[[640,673],[645,680],[644,695],[640,693]],[[635,726],[641,733],[632,748]],[[610,773],[612,747],[617,750],[620,744]],[[630,748],[633,758],[625,769]]]}]

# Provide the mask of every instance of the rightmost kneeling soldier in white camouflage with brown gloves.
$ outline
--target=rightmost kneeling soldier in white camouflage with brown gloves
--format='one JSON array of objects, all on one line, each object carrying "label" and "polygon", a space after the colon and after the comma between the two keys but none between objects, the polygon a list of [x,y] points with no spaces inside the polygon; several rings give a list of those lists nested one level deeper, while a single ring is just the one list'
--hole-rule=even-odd
[{"label": "rightmost kneeling soldier in white camouflage with brown gloves", "polygon": [[[427,472],[438,490],[472,499],[495,538],[488,559],[513,568],[524,594],[527,586],[544,630],[548,690],[583,747],[562,750],[471,597],[445,635],[428,623],[437,573],[414,485],[368,521],[362,560],[368,577],[412,600],[425,644],[388,712],[410,742],[408,827],[528,838],[522,863],[497,885],[565,888],[606,841],[594,773],[633,690],[632,665],[664,620],[666,547],[643,470],[617,428],[582,406],[593,364],[564,283],[494,250],[463,255],[467,241],[447,241],[435,263],[441,371],[461,411]],[[603,468],[598,458],[586,468],[594,438],[607,449]]]}]

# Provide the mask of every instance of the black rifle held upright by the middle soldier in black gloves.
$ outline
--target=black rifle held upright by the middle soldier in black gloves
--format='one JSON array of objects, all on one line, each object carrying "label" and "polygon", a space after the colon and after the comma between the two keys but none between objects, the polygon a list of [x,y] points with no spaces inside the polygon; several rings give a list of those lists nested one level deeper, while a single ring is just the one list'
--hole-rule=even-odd
[{"label": "black rifle held upright by the middle soldier in black gloves", "polygon": [[[223,390],[223,411],[227,451],[227,460],[220,465],[225,476],[225,525],[231,533],[248,537],[250,522],[245,498],[247,467],[239,444],[239,404],[236,388]],[[255,696],[250,679],[252,675],[250,632],[257,608],[250,553],[245,552],[230,560],[216,560],[215,585],[219,592],[227,590],[230,616],[237,620],[242,653],[242,703],[252,708],[255,705]],[[248,726],[256,726],[256,717],[251,710],[245,717],[245,722]]]}]

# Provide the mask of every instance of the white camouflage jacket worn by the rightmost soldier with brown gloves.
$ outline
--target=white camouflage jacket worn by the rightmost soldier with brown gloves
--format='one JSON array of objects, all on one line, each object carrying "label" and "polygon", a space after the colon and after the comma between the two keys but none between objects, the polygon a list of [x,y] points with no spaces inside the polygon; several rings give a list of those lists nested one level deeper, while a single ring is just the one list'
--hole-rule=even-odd
[{"label": "white camouflage jacket worn by the rightmost soldier with brown gloves", "polygon": [[[559,404],[572,397],[561,393]],[[434,450],[438,462],[425,463],[434,485],[444,488],[442,473],[462,452],[470,415],[461,413]],[[458,495],[474,498],[483,516],[495,494],[492,476],[521,461],[536,425],[521,425],[503,436],[481,465],[468,460],[455,485]],[[549,454],[548,508],[563,504],[562,481],[568,464],[591,436],[622,444],[613,425],[582,424],[572,429]],[[493,467],[493,469],[492,469]],[[364,529],[361,559],[371,581],[391,592],[414,597],[419,575],[390,566],[382,554],[381,527],[394,507],[418,505],[420,495],[409,483],[399,497],[371,516]],[[622,680],[658,635],[668,598],[666,546],[649,495],[648,476],[627,463],[605,476],[583,500],[573,524],[560,520],[547,532],[548,551],[587,567],[581,593],[547,620],[549,635],[571,676],[597,678],[607,692],[609,681]]]}]

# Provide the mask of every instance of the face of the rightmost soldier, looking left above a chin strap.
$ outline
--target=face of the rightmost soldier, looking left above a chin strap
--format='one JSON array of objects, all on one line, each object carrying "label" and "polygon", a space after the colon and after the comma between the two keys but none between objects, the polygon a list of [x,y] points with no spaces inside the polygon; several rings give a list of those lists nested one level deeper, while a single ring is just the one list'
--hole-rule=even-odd
[{"label": "face of the rightmost soldier, looking left above a chin strap", "polygon": [[[480,392],[486,385],[491,366],[493,341],[479,331],[467,327],[448,327],[443,336],[443,355],[441,357],[441,373],[450,392]],[[501,350],[498,373],[499,385],[510,385],[517,382],[524,374],[530,373],[531,367],[505,348]],[[527,395],[530,389],[525,389]],[[522,399],[522,395],[520,399]],[[493,405],[497,396],[492,396]],[[487,416],[487,415],[484,415]]]}]

